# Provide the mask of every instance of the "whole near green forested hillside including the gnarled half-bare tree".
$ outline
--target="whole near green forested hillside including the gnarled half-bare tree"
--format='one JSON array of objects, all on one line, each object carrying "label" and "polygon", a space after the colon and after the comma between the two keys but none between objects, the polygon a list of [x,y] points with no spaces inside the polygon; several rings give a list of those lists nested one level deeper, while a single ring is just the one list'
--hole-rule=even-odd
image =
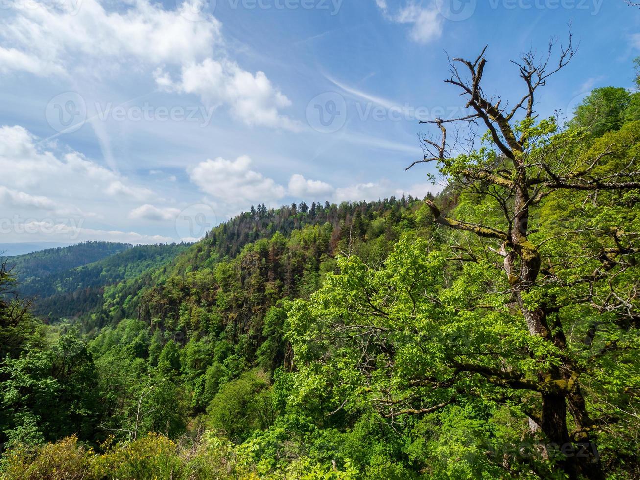
[{"label": "whole near green forested hillside including the gnarled half-bare tree", "polygon": [[640,478],[640,93],[536,116],[574,54],[525,54],[510,107],[484,51],[453,60],[475,113],[424,125],[436,197],[260,205],[172,259],[126,250],[68,280],[109,278],[70,328],[5,296],[0,472]]}]

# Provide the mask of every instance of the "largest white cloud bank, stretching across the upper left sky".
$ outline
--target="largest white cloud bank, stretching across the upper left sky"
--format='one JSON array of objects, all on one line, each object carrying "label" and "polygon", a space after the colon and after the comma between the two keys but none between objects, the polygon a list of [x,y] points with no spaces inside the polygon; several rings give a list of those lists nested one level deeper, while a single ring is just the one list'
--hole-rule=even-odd
[{"label": "largest white cloud bank, stretching across the upper left sky", "polygon": [[[10,45],[0,47],[0,72],[77,77],[89,70],[100,75],[109,65],[135,65],[161,90],[194,93],[204,102],[226,106],[244,124],[298,129],[280,113],[291,101],[264,72],[248,72],[228,58],[220,22],[200,13],[198,1],[175,10],[149,0],[117,11],[107,10],[106,0],[83,0],[77,11],[72,2],[61,8],[46,3],[18,8],[15,16],[0,20],[0,38]],[[77,58],[81,65],[74,64]],[[171,72],[177,72],[177,81]]]}]

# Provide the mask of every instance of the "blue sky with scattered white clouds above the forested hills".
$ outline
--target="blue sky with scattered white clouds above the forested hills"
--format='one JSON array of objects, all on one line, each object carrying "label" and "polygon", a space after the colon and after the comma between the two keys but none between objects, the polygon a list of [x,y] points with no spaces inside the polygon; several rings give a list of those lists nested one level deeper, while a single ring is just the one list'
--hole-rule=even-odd
[{"label": "blue sky with scattered white clouds above the forested hills", "polygon": [[489,45],[486,86],[572,24],[577,56],[538,112],[632,86],[623,0],[3,0],[3,242],[192,240],[252,204],[438,186],[420,118],[460,111],[447,56]]}]

